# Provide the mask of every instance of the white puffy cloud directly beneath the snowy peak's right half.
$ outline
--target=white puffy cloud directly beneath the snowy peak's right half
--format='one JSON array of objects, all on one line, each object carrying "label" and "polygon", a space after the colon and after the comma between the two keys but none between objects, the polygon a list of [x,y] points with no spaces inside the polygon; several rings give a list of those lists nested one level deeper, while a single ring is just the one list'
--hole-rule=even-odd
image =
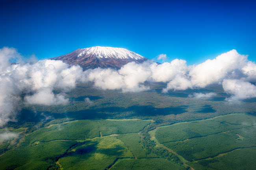
[{"label": "white puffy cloud directly beneath the snowy peak's right half", "polygon": [[114,69],[89,69],[85,71],[89,81],[94,82],[97,88],[103,90],[122,89],[123,92],[136,92],[148,90],[143,82],[149,79],[151,71],[148,63],[137,64],[130,62],[124,65],[120,70]]}]

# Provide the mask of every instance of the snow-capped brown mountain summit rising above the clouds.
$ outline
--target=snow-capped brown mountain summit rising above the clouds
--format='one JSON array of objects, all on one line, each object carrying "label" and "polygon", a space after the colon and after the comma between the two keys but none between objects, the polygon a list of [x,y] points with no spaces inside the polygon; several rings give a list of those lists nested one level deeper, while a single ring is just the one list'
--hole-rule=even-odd
[{"label": "snow-capped brown mountain summit rising above the clouds", "polygon": [[121,68],[128,62],[142,63],[148,58],[124,48],[90,47],[77,49],[69,54],[51,58],[62,60],[70,65],[80,65],[83,69],[89,68]]}]

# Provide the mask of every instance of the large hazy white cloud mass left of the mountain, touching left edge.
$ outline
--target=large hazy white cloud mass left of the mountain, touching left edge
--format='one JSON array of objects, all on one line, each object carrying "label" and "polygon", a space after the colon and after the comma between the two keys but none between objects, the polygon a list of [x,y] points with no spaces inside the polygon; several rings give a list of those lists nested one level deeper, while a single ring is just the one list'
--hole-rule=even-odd
[{"label": "large hazy white cloud mass left of the mountain, touching left edge", "polygon": [[75,88],[77,82],[85,82],[80,66],[69,67],[56,60],[9,62],[19,57],[13,48],[0,49],[0,126],[15,121],[22,104],[67,104],[65,92]]}]

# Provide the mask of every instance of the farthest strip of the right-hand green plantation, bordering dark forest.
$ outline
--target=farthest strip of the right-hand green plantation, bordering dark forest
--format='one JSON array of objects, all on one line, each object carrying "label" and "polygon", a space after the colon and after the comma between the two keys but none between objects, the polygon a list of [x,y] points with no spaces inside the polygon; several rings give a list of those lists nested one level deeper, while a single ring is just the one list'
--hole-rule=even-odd
[{"label": "farthest strip of the right-hand green plantation, bordering dark forest", "polygon": [[156,131],[156,138],[160,143],[183,141],[194,137],[245,128],[252,126],[255,121],[256,118],[252,115],[233,114],[202,121],[177,123],[159,128]]}]

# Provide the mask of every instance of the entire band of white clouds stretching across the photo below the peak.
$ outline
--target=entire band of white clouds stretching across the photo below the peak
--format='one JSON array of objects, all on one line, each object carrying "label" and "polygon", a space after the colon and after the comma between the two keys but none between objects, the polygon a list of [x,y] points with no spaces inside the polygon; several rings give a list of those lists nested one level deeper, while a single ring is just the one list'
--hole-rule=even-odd
[{"label": "entire band of white clouds stretching across the photo below the peak", "polygon": [[[80,66],[70,67],[59,60],[10,64],[17,58],[20,54],[15,49],[0,49],[0,126],[15,121],[22,104],[67,104],[69,99],[65,94],[78,82],[93,82],[95,88],[122,92],[149,90],[143,84],[146,81],[165,82],[165,93],[222,84],[224,91],[231,94],[227,101],[256,97],[256,87],[250,83],[256,80],[256,64],[235,49],[193,66],[187,66],[186,60],[175,59],[163,64],[130,62],[119,70],[96,68],[83,71]],[[214,95],[197,93],[193,97]]]}]

